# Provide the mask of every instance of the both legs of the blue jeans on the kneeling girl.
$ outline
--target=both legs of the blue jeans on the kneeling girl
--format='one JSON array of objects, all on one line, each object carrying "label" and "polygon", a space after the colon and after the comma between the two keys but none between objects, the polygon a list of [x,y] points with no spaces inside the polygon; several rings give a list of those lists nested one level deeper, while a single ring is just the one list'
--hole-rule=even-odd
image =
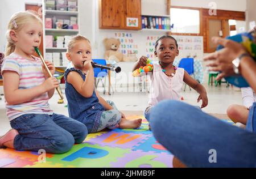
[{"label": "both legs of the blue jeans on the kneeling girl", "polygon": [[39,151],[63,154],[74,143],[82,143],[88,134],[86,126],[60,114],[24,114],[11,121],[18,130],[14,139],[15,150]]}]

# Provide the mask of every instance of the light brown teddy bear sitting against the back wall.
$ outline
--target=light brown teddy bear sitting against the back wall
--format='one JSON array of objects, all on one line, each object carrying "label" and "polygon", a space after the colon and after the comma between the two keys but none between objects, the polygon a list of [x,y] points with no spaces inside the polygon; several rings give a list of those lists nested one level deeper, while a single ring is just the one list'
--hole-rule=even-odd
[{"label": "light brown teddy bear sitting against the back wall", "polygon": [[106,60],[116,61],[116,62],[123,62],[123,61],[137,61],[137,57],[135,54],[122,54],[118,49],[121,42],[119,39],[115,38],[106,38],[104,39],[105,45],[105,54],[104,58]]}]

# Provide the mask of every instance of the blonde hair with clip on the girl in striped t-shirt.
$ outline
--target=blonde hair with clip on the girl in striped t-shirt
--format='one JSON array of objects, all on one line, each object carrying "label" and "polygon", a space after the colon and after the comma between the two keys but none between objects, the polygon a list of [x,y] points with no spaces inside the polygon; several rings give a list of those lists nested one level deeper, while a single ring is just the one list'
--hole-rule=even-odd
[{"label": "blonde hair with clip on the girl in striped t-shirt", "polygon": [[42,23],[42,20],[32,12],[17,12],[11,16],[10,22],[7,27],[6,38],[7,45],[5,50],[5,56],[9,56],[15,50],[15,42],[10,37],[10,31],[19,32],[27,23],[30,23],[32,20],[37,20],[39,23]]}]

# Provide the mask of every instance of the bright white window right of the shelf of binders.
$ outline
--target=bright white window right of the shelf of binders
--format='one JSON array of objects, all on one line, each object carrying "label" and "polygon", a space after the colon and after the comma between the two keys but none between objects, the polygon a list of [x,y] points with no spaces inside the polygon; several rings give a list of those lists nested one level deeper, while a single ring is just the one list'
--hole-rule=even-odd
[{"label": "bright white window right of the shelf of binders", "polygon": [[171,8],[173,33],[200,33],[200,11],[185,8]]}]

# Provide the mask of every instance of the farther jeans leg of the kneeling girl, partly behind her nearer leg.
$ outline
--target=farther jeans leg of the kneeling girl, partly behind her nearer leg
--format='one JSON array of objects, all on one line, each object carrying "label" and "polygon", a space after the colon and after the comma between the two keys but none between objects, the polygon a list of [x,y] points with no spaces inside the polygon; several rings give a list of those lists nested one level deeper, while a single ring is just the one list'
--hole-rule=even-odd
[{"label": "farther jeans leg of the kneeling girl, partly behind her nearer leg", "polygon": [[83,123],[60,114],[53,114],[52,118],[53,122],[73,135],[75,143],[82,143],[86,138],[88,130]]}]

